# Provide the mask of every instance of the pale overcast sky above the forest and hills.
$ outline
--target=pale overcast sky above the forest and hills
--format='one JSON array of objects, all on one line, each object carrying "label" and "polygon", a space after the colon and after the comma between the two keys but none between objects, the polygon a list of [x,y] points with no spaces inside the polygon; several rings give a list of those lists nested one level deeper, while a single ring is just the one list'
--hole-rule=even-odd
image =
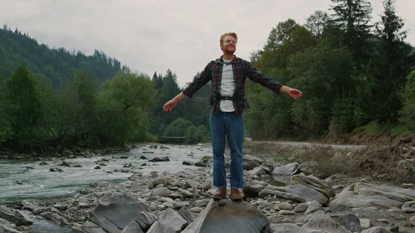
[{"label": "pale overcast sky above the forest and hills", "polygon": [[[378,21],[382,1],[371,0]],[[170,68],[183,86],[221,55],[219,36],[237,32],[236,55],[249,59],[273,27],[288,18],[304,24],[330,0],[0,0],[0,24],[27,32],[39,44],[103,50],[152,76]],[[414,0],[398,0],[407,41],[415,45]],[[274,77],[277,80],[277,77]]]}]

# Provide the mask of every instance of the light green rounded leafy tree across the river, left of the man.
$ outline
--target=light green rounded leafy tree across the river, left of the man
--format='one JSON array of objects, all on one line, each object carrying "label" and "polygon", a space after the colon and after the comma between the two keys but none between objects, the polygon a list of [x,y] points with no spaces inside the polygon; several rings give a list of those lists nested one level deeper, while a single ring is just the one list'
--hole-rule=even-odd
[{"label": "light green rounded leafy tree across the river, left of the man", "polygon": [[117,145],[147,139],[154,94],[153,83],[143,76],[117,73],[105,82],[98,97],[97,143]]}]

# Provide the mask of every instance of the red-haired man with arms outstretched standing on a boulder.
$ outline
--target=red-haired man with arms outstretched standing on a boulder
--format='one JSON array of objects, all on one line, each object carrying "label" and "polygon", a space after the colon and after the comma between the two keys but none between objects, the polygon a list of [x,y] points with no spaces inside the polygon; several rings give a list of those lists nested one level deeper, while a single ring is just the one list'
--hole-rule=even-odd
[{"label": "red-haired man with arms outstretched standing on a boulder", "polygon": [[225,198],[227,192],[225,159],[225,136],[230,149],[230,198],[241,201],[243,196],[243,110],[248,107],[245,97],[245,81],[270,88],[275,93],[286,93],[297,99],[302,95],[297,89],[289,88],[257,71],[250,62],[234,55],[237,48],[237,34],[228,32],[221,35],[219,44],[223,55],[210,62],[199,77],[163,106],[164,111],[172,111],[176,104],[186,96],[192,97],[202,86],[212,81],[210,105],[210,133],[213,150],[213,186],[217,188],[212,198]]}]

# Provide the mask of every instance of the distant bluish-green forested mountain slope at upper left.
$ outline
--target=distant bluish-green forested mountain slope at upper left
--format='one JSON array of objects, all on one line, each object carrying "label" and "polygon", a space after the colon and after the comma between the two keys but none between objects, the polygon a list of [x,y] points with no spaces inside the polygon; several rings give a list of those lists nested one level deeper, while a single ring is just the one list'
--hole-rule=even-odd
[{"label": "distant bluish-green forested mountain slope at upper left", "polygon": [[0,76],[10,77],[19,64],[24,63],[35,77],[48,78],[55,87],[62,86],[71,79],[73,73],[89,68],[95,77],[103,82],[118,71],[131,73],[128,66],[121,65],[102,51],[95,50],[93,55],[84,55],[81,51],[69,51],[65,48],[49,48],[38,44],[36,39],[19,30],[12,31],[8,26],[0,28]]}]

